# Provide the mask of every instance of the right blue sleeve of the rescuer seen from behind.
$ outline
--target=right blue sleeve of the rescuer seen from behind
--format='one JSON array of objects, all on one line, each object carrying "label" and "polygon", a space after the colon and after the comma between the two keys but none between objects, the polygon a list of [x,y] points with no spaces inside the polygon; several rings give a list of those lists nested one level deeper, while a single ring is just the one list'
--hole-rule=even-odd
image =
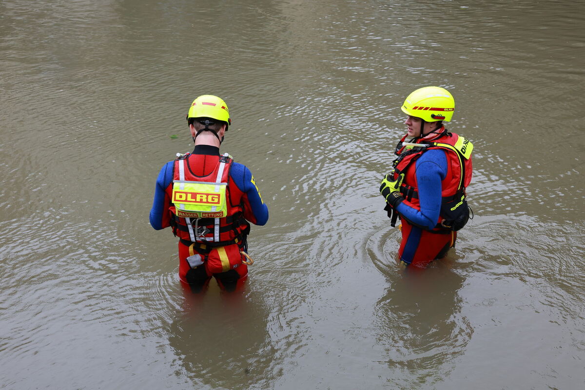
[{"label": "right blue sleeve of the rescuer seen from behind", "polygon": [[233,182],[244,193],[244,218],[254,225],[266,225],[268,222],[268,206],[262,200],[260,189],[252,172],[246,165],[233,163],[230,176]]}]

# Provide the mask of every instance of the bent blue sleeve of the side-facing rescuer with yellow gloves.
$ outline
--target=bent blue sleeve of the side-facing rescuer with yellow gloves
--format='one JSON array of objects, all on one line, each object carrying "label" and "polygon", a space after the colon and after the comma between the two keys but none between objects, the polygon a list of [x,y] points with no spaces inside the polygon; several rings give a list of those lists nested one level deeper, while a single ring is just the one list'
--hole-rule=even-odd
[{"label": "bent blue sleeve of the side-facing rescuer with yellow gloves", "polygon": [[400,203],[396,210],[415,225],[433,229],[441,212],[441,181],[447,175],[445,151],[428,150],[422,154],[416,164],[418,199],[421,203],[421,210],[407,206],[404,202]]}]

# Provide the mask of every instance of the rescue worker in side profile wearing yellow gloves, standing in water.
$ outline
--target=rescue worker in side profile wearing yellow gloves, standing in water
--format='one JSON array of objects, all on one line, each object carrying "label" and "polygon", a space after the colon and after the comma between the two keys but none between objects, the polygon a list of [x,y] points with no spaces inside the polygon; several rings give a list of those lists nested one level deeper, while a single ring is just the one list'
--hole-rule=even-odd
[{"label": "rescue worker in side profile wearing yellow gloves, standing in water", "polygon": [[473,145],[443,126],[455,111],[455,100],[444,88],[417,89],[402,111],[408,115],[408,133],[398,142],[398,157],[380,192],[391,226],[401,220],[400,261],[424,268],[445,257],[469,219],[465,189],[472,178]]}]

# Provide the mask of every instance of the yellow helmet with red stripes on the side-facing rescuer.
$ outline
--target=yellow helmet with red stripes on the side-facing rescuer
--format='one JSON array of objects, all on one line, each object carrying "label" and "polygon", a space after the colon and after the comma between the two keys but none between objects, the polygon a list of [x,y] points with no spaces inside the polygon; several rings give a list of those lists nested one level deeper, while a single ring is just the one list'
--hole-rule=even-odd
[{"label": "yellow helmet with red stripes on the side-facing rescuer", "polygon": [[455,99],[445,88],[424,87],[408,95],[401,109],[426,122],[451,120],[455,111]]}]

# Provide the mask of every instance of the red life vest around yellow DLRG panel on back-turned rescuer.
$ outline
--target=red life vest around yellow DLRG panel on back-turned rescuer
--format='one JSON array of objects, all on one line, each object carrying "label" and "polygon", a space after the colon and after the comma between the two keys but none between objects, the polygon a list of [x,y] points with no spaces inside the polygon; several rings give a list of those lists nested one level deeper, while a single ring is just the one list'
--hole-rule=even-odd
[{"label": "red life vest around yellow DLRG panel on back-turned rescuer", "polygon": [[[176,206],[171,202],[171,226],[173,233],[185,244],[198,244],[198,248],[205,250],[208,247],[226,246],[234,243],[243,244],[250,225],[243,218],[242,192],[230,185],[229,171],[233,160],[226,153],[218,156],[213,171],[207,175],[197,176],[192,172],[193,161],[197,154],[184,154],[175,160],[173,167],[173,181],[191,181],[216,183],[226,185],[227,215],[223,218],[184,218],[177,216]],[[190,158],[191,157],[191,158]],[[212,158],[213,156],[205,156]],[[234,188],[235,187],[235,188]]]}]

